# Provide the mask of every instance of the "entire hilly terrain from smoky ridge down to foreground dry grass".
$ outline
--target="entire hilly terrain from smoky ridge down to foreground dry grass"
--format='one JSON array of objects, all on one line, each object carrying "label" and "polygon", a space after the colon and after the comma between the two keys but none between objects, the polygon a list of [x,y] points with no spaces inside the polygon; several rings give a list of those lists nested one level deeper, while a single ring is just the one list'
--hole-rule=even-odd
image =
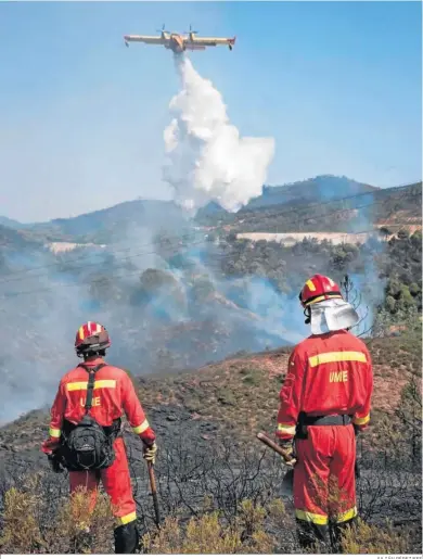
[{"label": "entire hilly terrain from smoky ridge down to foreground dry grass", "polygon": [[[69,521],[67,480],[48,471],[39,445],[59,377],[75,364],[75,329],[92,318],[110,329],[108,357],[131,372],[158,434],[161,534],[140,442],[125,434],[146,551],[298,551],[285,469],[255,434],[274,430],[290,346],[309,333],[298,291],[323,272],[358,308],[356,333],[375,370],[372,428],[359,441],[366,523],[345,549],[420,552],[421,185],[381,192],[357,187],[337,202],[291,199],[223,217],[215,207],[214,220],[196,221],[136,202],[0,228],[0,423],[12,421],[0,429],[0,550],[87,550]],[[376,234],[339,243],[312,234],[360,227]],[[304,239],[238,238],[272,228]],[[86,509],[81,496],[81,519]],[[110,523],[103,499],[92,551],[111,552]]]}]

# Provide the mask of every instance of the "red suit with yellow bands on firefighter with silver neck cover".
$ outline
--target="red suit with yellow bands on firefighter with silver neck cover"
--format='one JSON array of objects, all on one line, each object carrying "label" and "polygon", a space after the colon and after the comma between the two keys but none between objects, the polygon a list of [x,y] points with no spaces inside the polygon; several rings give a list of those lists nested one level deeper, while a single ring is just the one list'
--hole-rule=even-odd
[{"label": "red suit with yellow bands on firefighter with silver neck cover", "polygon": [[[361,340],[346,330],[311,335],[290,356],[277,435],[293,440],[304,415],[346,415],[356,429],[364,430],[372,391],[371,357]],[[306,439],[295,436],[295,516],[320,539],[329,522],[341,525],[357,516],[354,425],[309,425],[303,428]]]}]

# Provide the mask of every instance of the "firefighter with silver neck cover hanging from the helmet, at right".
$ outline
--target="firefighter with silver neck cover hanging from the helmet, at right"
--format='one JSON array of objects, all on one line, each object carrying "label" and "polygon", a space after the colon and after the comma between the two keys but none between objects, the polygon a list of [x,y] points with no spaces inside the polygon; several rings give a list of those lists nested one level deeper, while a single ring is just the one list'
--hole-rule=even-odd
[{"label": "firefighter with silver neck cover hanging from the helmet, at right", "polygon": [[333,280],[313,276],[299,298],[311,335],[290,356],[277,436],[294,466],[302,547],[330,536],[338,551],[343,526],[357,519],[356,434],[369,425],[372,363],[366,344],[348,331],[359,317]]}]

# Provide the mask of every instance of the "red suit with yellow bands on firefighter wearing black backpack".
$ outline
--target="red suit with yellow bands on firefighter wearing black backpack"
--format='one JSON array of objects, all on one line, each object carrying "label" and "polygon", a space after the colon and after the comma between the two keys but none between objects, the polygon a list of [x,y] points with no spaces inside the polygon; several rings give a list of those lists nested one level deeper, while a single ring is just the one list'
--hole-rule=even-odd
[{"label": "red suit with yellow bands on firefighter wearing black backpack", "polygon": [[[101,363],[104,360],[100,357],[85,361],[90,367]],[[70,370],[61,380],[51,408],[50,436],[42,444],[42,450],[46,454],[59,446],[65,419],[74,424],[82,419],[86,412],[87,385],[88,373],[82,367]],[[123,410],[134,433],[139,434],[146,444],[152,444],[155,441],[155,433],[145,418],[130,378],[124,370],[106,365],[95,373],[90,415],[101,425],[107,427],[121,417]],[[134,521],[137,514],[126,448],[121,436],[115,440],[114,449],[116,454],[114,462],[110,468],[100,470],[100,477],[111,498],[118,524],[125,525]],[[70,492],[78,486],[91,491],[91,505],[94,506],[99,484],[98,472],[69,472],[69,483]]]}]

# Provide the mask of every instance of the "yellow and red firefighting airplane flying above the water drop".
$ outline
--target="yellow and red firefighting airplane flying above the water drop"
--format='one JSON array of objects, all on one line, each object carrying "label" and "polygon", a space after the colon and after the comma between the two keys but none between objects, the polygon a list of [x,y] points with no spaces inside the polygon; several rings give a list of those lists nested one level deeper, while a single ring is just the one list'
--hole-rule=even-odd
[{"label": "yellow and red firefighting airplane flying above the water drop", "polygon": [[191,29],[185,31],[187,35],[179,33],[170,33],[165,30],[165,26],[159,30],[161,36],[155,37],[152,35],[125,35],[125,45],[129,47],[129,42],[145,42],[146,45],[163,45],[165,49],[170,49],[175,54],[180,54],[185,50],[205,50],[207,47],[217,47],[218,45],[227,45],[229,50],[232,50],[235,45],[236,37],[221,38],[221,37],[195,37],[198,31]]}]

